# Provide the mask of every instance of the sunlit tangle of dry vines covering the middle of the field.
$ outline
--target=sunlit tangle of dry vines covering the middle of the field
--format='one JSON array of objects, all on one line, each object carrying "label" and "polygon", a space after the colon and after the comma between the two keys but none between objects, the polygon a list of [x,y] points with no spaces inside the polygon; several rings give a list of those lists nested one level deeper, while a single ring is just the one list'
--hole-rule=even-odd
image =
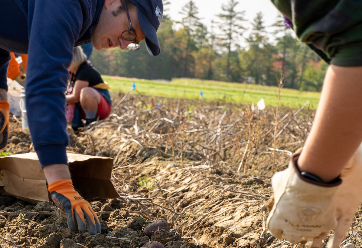
[{"label": "sunlit tangle of dry vines covering the middle of the field", "polygon": [[112,180],[132,213],[164,218],[183,237],[211,246],[272,245],[265,228],[272,153],[281,170],[303,145],[314,114],[307,103],[277,113],[274,149],[273,108],[128,93],[118,99],[107,120],[71,135],[71,149],[114,157]]}]

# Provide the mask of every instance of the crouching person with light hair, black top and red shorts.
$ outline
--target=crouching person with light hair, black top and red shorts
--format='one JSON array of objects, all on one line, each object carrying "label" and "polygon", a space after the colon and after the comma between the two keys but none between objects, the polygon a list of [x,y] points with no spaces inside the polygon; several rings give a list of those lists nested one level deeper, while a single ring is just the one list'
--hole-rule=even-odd
[{"label": "crouching person with light hair, black top and red shorts", "polygon": [[93,121],[107,118],[111,112],[112,102],[108,84],[100,73],[87,61],[80,46],[74,47],[73,59],[68,67],[70,79],[67,86],[67,120],[73,122],[72,128],[77,130]]}]

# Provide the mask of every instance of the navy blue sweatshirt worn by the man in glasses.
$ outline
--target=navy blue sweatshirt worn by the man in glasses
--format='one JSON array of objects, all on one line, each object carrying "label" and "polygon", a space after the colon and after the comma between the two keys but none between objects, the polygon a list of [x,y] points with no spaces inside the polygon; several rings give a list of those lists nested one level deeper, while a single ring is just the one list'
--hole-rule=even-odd
[{"label": "navy blue sweatshirt worn by the man in glasses", "polygon": [[73,47],[90,42],[104,0],[0,1],[0,88],[9,52],[28,54],[26,109],[43,166],[67,164],[66,81]]}]

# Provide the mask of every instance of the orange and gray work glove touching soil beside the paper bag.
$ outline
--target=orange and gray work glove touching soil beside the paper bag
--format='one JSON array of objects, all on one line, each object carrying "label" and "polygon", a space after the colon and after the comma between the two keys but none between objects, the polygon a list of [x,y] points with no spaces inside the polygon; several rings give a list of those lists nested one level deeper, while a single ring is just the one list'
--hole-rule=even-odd
[{"label": "orange and gray work glove touching soil beside the paper bag", "polygon": [[74,190],[74,186],[69,179],[60,179],[48,185],[53,202],[61,208],[67,216],[68,228],[75,231],[76,224],[78,230],[85,232],[85,221],[88,224],[88,232],[94,235],[101,233],[101,225],[97,215],[94,213],[89,203]]}]

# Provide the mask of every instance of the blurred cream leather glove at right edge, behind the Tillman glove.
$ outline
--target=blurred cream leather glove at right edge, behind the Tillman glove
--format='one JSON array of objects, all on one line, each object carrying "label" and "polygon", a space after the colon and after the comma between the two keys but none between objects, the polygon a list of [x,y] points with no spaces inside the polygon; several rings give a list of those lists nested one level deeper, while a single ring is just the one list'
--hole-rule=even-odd
[{"label": "blurred cream leather glove at right edge, behind the Tillman glove", "polygon": [[[341,173],[342,184],[336,191],[337,227],[333,238],[329,239],[328,248],[339,248],[345,237],[354,214],[362,201],[362,146],[360,145]],[[320,247],[320,242],[313,240],[313,247]],[[316,243],[316,244],[314,244]]]}]

